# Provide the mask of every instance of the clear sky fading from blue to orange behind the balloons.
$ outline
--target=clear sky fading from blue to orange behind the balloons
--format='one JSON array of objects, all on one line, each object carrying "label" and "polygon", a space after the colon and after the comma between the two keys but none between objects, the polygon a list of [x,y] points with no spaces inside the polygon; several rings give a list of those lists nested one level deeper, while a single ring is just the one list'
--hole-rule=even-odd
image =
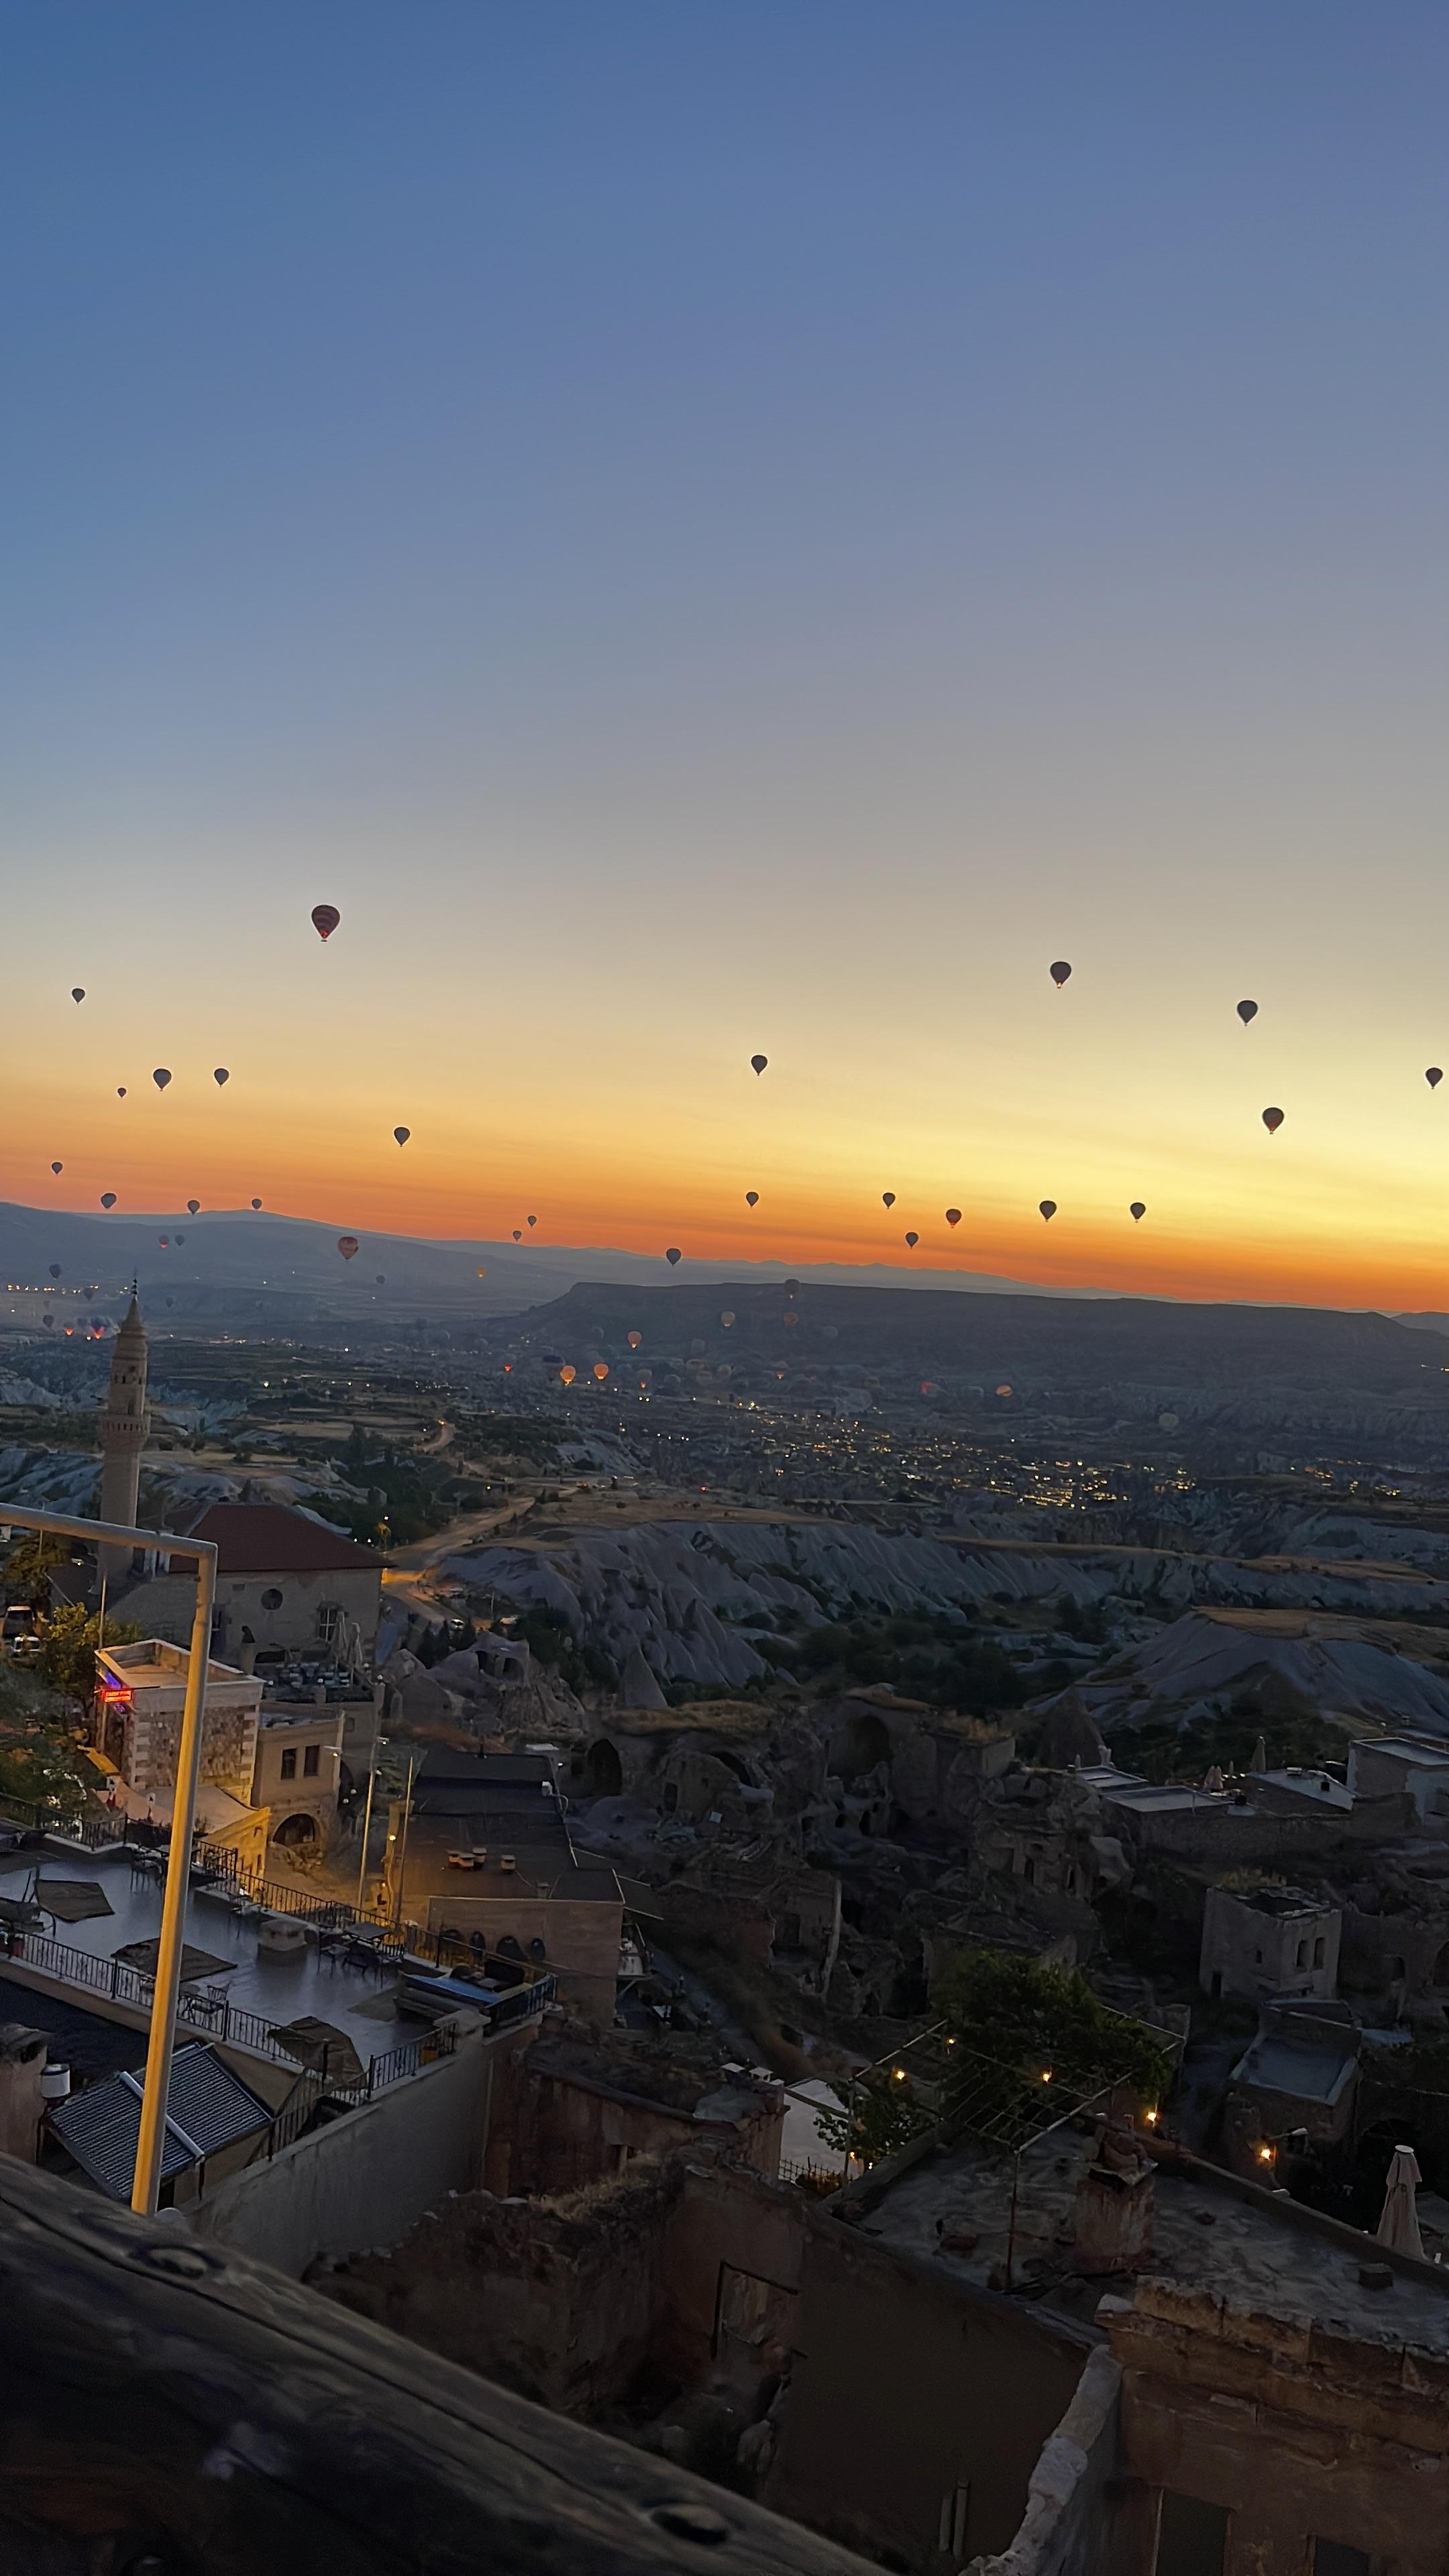
[{"label": "clear sky fading from blue to orange behind the balloons", "polygon": [[0,1190],[1449,1303],[1446,108],[1392,0],[0,5]]}]

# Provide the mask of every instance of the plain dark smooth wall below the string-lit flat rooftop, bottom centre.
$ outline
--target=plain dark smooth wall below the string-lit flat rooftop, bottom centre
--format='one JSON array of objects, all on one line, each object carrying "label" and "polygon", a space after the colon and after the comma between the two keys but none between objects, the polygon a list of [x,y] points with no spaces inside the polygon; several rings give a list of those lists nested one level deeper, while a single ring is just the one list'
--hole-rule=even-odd
[{"label": "plain dark smooth wall below the string-lit flat rooftop, bottom centre", "polygon": [[866,2555],[931,2568],[941,2517],[967,2488],[959,2553],[1003,2550],[1088,2349],[1073,2329],[825,2218],[804,2244],[763,2501]]}]

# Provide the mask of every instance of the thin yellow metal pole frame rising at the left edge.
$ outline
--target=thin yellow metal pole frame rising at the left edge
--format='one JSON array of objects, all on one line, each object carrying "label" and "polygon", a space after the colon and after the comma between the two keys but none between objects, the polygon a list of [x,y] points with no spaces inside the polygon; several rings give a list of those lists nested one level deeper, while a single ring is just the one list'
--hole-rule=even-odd
[{"label": "thin yellow metal pole frame rising at the left edge", "polygon": [[217,1546],[209,1538],[173,1538],[168,1530],[129,1530],[113,1520],[80,1520],[70,1512],[31,1512],[10,1502],[0,1504],[0,1528],[36,1530],[39,1535],[54,1538],[83,1538],[95,1548],[147,1548],[157,1556],[191,1558],[196,1566],[196,1615],[191,1620],[186,1705],[180,1710],[180,1744],[175,1749],[170,1862],[160,1914],[160,1950],[152,1986],[152,2027],[147,2045],[142,2125],[137,2136],[137,2169],[131,2177],[131,2208],[139,2210],[142,2218],[150,2218],[155,2215],[160,2197],[165,2105],[170,2092],[170,2058],[175,2050],[186,1896],[191,1891],[191,1837],[196,1832],[196,1783],[201,1777],[201,1726],[206,1718],[206,1667],[211,1662],[211,1605],[217,1600]]}]

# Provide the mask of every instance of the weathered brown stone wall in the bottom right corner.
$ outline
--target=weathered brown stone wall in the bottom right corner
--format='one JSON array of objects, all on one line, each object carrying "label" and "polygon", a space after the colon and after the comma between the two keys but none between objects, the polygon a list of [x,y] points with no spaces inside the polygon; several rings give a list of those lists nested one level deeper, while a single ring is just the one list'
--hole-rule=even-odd
[{"label": "weathered brown stone wall in the bottom right corner", "polygon": [[1441,2576],[1449,2357],[1395,2342],[1390,2300],[1382,2339],[1165,2280],[1104,2300],[1124,2473],[1227,2509],[1235,2576],[1302,2576],[1310,2537]]}]

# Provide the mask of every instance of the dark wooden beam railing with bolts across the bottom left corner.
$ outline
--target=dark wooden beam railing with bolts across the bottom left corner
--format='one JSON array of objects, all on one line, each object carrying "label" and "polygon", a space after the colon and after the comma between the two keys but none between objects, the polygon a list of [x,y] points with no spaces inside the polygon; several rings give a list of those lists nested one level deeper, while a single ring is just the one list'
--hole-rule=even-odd
[{"label": "dark wooden beam railing with bolts across the bottom left corner", "polygon": [[0,2159],[15,2576],[869,2576],[673,2463]]}]

